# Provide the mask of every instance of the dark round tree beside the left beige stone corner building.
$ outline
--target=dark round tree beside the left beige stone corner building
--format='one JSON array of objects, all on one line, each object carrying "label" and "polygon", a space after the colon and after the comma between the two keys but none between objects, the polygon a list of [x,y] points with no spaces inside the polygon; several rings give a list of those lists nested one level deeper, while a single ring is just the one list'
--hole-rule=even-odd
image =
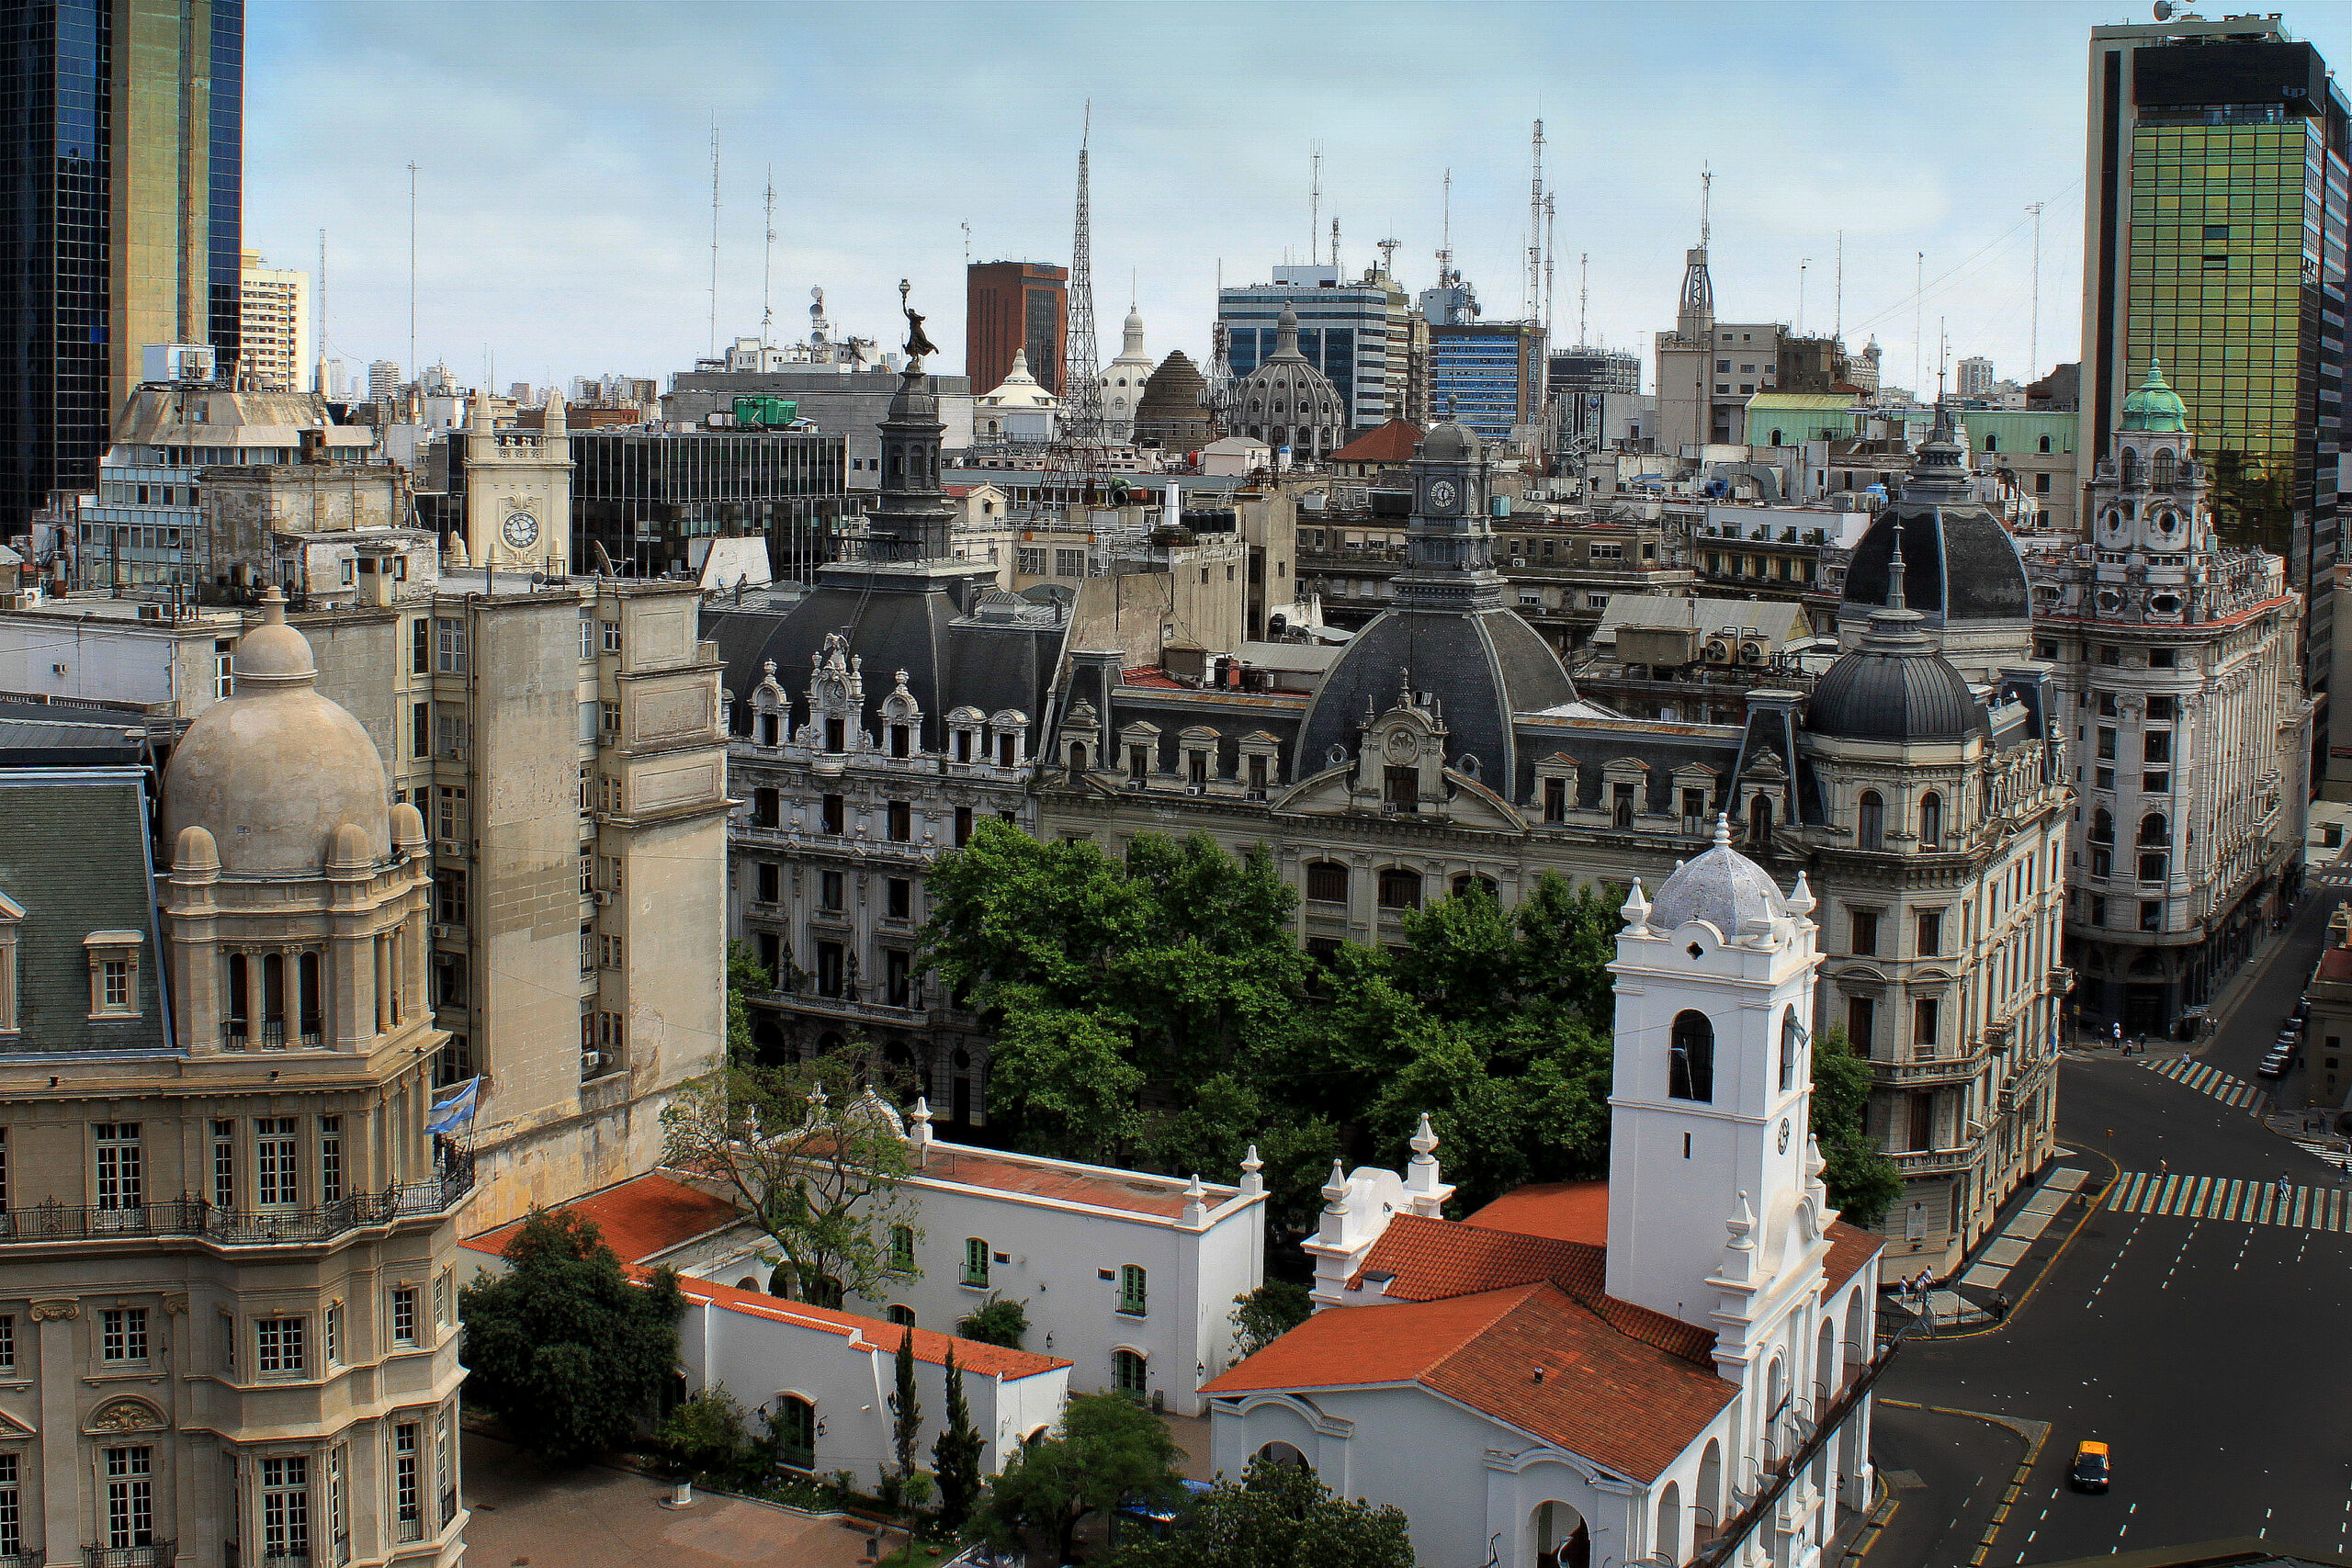
[{"label": "dark round tree beside the left beige stone corner building", "polygon": [[633,1284],[595,1220],[532,1211],[508,1269],[459,1293],[466,1396],[524,1450],[579,1460],[630,1441],[677,1366],[677,1276]]}]

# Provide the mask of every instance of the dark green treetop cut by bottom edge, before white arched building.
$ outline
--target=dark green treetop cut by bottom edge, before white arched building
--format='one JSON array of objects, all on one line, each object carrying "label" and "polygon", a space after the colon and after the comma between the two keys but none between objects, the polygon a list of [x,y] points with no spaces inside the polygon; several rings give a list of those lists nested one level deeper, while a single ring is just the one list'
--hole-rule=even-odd
[{"label": "dark green treetop cut by bottom edge, before white arched building", "polygon": [[1251,1460],[1192,1497],[1167,1540],[1136,1535],[1108,1568],[1414,1568],[1404,1509],[1334,1497],[1303,1465]]}]

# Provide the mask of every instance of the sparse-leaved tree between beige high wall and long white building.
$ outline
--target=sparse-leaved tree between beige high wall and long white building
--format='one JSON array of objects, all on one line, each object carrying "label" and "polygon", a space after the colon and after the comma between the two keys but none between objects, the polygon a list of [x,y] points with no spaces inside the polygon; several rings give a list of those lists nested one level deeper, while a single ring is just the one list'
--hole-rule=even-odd
[{"label": "sparse-leaved tree between beige high wall and long white building", "polygon": [[776,1244],[797,1300],[840,1307],[903,1274],[891,1227],[913,1229],[906,1133],[849,1067],[734,1067],[687,1084],[661,1112],[663,1159],[724,1182]]}]

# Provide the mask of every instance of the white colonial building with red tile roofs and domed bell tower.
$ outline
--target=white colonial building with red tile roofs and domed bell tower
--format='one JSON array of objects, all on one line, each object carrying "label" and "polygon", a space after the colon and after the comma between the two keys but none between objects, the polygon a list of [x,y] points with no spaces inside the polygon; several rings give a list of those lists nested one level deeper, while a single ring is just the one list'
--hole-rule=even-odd
[{"label": "white colonial building with red tile roofs and domed bell tower", "polygon": [[1870,1500],[1879,1241],[1806,1133],[1811,910],[1724,830],[1637,884],[1609,1182],[1449,1222],[1428,1133],[1402,1178],[1334,1168],[1319,1309],[1209,1382],[1216,1467],[1312,1465],[1423,1563],[1816,1563]]}]

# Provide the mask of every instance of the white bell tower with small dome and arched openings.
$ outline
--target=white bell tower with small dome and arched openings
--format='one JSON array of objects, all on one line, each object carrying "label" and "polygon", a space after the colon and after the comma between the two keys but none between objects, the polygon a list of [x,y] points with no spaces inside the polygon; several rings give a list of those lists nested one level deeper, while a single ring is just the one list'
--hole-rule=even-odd
[{"label": "white bell tower with small dome and arched openings", "polygon": [[1818,1269],[1811,912],[1804,877],[1783,898],[1722,818],[1656,903],[1639,882],[1625,900],[1609,966],[1609,1295],[1726,1335],[1750,1319],[1743,1300]]}]

